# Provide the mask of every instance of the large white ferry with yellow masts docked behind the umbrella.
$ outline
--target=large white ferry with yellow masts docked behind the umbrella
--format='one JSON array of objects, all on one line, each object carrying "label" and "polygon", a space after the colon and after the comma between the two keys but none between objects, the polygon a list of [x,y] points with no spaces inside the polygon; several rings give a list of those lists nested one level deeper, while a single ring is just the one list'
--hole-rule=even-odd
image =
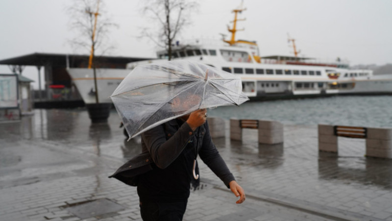
[{"label": "large white ferry with yellow masts docked behind the umbrella", "polygon": [[[392,94],[392,74],[374,76],[371,70],[350,70],[345,62],[314,62],[295,56],[261,57],[256,42],[235,40],[238,31],[234,9],[230,40],[194,40],[176,42],[172,60],[201,62],[242,78],[243,92],[250,99],[318,97],[336,94]],[[289,39],[293,40],[293,39]],[[293,40],[294,44],[294,40]],[[121,80],[137,65],[167,61],[167,50],[157,52],[157,59],[132,62],[126,70],[98,69],[99,102],[111,102],[109,96]],[[95,102],[94,78],[91,70],[68,69],[85,103]]]}]

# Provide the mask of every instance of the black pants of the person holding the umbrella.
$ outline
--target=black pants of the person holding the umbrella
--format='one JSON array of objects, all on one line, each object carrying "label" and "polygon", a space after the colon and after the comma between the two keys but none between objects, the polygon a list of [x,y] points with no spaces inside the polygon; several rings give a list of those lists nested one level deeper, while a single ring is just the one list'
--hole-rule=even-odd
[{"label": "black pants of the person holding the umbrella", "polygon": [[182,221],[188,200],[182,202],[140,202],[143,221]]}]

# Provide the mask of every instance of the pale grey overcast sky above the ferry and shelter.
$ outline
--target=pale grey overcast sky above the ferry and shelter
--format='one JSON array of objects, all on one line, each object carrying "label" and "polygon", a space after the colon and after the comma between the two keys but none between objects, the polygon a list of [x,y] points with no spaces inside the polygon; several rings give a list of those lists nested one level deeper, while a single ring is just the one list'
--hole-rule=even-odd
[{"label": "pale grey overcast sky above the ferry and shelter", "polygon": [[[154,44],[137,36],[150,21],[141,13],[143,0],[103,0],[106,11],[119,28],[110,32],[113,56],[155,57]],[[233,20],[231,10],[241,0],[199,0],[181,39],[220,39]],[[71,0],[0,0],[0,60],[42,53],[74,51],[67,40],[76,36],[69,29],[65,8]],[[287,33],[295,39],[301,56],[347,59],[350,65],[392,63],[392,0],[245,0],[237,39],[256,41],[260,54],[290,55]],[[0,74],[10,73],[0,66]],[[37,78],[36,68],[23,73]],[[36,85],[35,83],[34,85]]]}]

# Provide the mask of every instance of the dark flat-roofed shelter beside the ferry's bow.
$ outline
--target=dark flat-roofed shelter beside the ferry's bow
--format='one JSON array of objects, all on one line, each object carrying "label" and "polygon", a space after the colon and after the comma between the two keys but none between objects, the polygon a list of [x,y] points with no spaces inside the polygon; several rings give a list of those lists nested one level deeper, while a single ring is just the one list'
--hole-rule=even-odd
[{"label": "dark flat-roofed shelter beside the ferry's bow", "polygon": [[[151,58],[96,56],[96,68],[125,69],[126,64]],[[66,68],[87,68],[89,55],[32,53],[18,57],[0,60],[0,65],[8,65],[14,74],[22,75],[25,66],[37,67],[39,88],[41,87],[41,70],[45,79],[45,89],[34,92],[35,107],[83,106],[76,88],[72,84],[71,76]],[[58,89],[62,90],[58,90]],[[55,96],[53,96],[55,95]],[[64,102],[68,101],[68,102]]]}]

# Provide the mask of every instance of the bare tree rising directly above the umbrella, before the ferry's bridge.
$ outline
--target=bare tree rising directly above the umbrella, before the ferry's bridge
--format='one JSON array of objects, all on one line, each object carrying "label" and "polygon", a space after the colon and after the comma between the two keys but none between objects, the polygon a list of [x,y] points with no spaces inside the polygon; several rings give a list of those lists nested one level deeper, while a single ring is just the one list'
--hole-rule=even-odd
[{"label": "bare tree rising directly above the umbrella, before the ferry's bridge", "polygon": [[158,31],[145,27],[142,37],[151,39],[156,45],[168,51],[169,60],[172,59],[172,45],[175,38],[189,23],[189,15],[198,6],[191,0],[148,0],[144,13],[151,16],[159,25]]}]

